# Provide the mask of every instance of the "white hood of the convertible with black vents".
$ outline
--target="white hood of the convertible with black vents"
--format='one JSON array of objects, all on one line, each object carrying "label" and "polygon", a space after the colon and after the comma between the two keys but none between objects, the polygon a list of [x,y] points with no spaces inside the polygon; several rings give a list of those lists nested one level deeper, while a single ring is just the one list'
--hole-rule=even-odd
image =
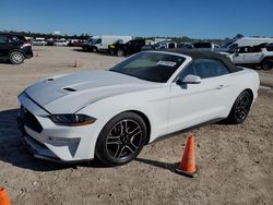
[{"label": "white hood of the convertible with black vents", "polygon": [[111,71],[84,71],[37,82],[27,96],[50,113],[73,113],[103,98],[158,87],[152,83]]}]

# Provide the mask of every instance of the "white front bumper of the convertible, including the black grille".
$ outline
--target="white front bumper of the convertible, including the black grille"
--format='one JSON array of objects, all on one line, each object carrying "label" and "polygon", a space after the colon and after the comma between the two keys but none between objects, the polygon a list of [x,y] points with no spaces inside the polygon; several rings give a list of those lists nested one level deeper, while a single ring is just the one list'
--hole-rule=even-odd
[{"label": "white front bumper of the convertible, including the black grille", "polygon": [[19,96],[22,105],[17,116],[23,142],[34,157],[54,161],[82,161],[94,158],[103,122],[82,126],[61,126],[45,116],[49,113],[28,98]]}]

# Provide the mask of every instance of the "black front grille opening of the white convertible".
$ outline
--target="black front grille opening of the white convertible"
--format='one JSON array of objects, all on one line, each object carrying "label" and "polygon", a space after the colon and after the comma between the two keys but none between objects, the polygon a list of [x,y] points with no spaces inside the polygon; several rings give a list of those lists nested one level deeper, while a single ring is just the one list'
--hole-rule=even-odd
[{"label": "black front grille opening of the white convertible", "polygon": [[25,107],[21,106],[20,109],[20,118],[24,125],[27,128],[34,130],[35,132],[40,133],[43,131],[43,126],[38,122],[38,120],[35,118],[33,113],[31,113]]}]

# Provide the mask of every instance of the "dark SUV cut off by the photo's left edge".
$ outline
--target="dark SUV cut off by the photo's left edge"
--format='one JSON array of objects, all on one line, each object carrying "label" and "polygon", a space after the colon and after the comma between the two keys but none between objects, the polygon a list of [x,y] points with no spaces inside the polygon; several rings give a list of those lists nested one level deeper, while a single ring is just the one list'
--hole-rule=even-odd
[{"label": "dark SUV cut off by the photo's left edge", "polygon": [[24,36],[0,33],[0,60],[20,64],[32,57],[32,44]]}]

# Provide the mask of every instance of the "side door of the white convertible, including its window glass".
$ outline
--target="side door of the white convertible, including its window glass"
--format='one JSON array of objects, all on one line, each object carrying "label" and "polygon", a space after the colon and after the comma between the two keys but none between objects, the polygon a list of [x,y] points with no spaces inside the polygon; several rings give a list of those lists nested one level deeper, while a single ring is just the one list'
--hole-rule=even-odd
[{"label": "side door of the white convertible, including its window glass", "polygon": [[210,120],[222,118],[229,109],[227,100],[230,82],[228,69],[217,60],[193,61],[179,74],[182,81],[188,74],[201,77],[199,84],[170,85],[168,132],[176,132]]}]

